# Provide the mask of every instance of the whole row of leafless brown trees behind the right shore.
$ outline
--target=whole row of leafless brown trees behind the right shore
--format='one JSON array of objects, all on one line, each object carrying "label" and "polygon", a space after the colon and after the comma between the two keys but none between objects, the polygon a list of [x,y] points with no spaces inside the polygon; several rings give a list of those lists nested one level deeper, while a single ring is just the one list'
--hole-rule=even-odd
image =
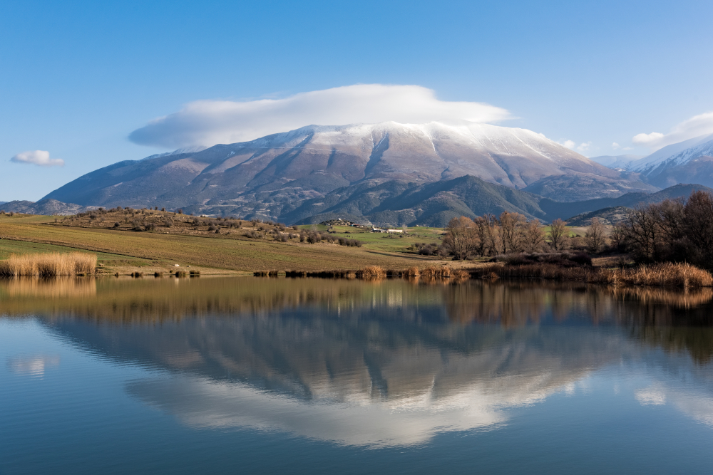
[{"label": "whole row of leafless brown trees behind the right shore", "polygon": [[693,192],[688,199],[666,199],[630,209],[623,221],[607,229],[593,219],[583,239],[570,236],[565,221],[555,219],[549,231],[538,219],[519,213],[454,218],[441,245],[455,259],[469,256],[535,253],[578,248],[627,252],[640,262],[689,262],[713,268],[713,194]]}]

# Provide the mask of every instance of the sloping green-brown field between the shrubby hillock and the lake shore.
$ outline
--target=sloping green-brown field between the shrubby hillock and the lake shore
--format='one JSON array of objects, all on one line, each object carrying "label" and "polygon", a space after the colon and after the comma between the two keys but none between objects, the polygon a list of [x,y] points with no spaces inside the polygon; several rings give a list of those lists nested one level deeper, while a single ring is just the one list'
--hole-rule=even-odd
[{"label": "sloping green-brown field between the shrubby hillock and the lake shore", "polygon": [[[168,231],[135,232],[127,229],[128,225],[111,229],[108,225],[89,227],[91,224],[87,226],[83,221],[63,224],[62,217],[56,223],[55,219],[56,216],[0,215],[0,259],[14,253],[86,249],[98,254],[98,264],[104,273],[130,273],[133,268],[142,268],[144,272],[166,271],[175,263],[210,273],[211,269],[252,272],[357,269],[371,265],[408,268],[433,265],[434,261],[438,265],[446,262],[406,251],[414,242],[438,241],[438,230],[426,228],[416,228],[414,235],[402,238],[347,226],[334,229],[338,234],[341,231],[339,236],[364,241],[364,246],[357,248],[325,242],[303,244],[297,239],[289,242],[249,239],[237,232],[214,234],[201,229],[181,234],[178,226]],[[169,234],[165,234],[167,232]]]}]

